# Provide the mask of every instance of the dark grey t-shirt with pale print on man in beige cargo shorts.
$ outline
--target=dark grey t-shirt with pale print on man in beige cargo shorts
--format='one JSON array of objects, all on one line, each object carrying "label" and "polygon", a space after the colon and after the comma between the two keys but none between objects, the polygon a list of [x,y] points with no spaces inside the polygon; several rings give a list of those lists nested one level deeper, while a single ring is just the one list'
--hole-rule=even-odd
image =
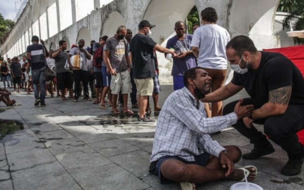
[{"label": "dark grey t-shirt with pale print on man in beige cargo shorts", "polygon": [[106,42],[106,51],[110,51],[110,62],[117,73],[128,70],[125,54],[129,53],[129,47],[124,40],[118,40],[113,36]]}]

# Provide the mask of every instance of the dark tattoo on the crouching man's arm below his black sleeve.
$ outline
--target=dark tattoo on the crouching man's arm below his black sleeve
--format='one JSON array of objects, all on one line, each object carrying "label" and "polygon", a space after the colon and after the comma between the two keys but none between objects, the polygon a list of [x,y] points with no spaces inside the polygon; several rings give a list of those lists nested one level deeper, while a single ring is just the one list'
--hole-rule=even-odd
[{"label": "dark tattoo on the crouching man's arm below his black sleeve", "polygon": [[278,88],[269,92],[269,102],[273,104],[288,105],[292,86]]}]

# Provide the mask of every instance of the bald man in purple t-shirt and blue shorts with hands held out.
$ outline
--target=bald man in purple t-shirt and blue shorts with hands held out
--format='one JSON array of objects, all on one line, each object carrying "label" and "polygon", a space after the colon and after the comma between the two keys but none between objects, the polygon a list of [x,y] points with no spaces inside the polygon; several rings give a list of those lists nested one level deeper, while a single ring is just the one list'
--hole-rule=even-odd
[{"label": "bald man in purple t-shirt and blue shorts with hands held out", "polygon": [[[195,67],[196,63],[190,46],[192,35],[185,33],[185,23],[177,21],[174,30],[176,35],[168,40],[166,48],[174,49],[177,54],[173,57],[171,75],[173,76],[173,89],[178,90],[184,87],[185,71]],[[166,53],[165,56],[167,56]]]}]

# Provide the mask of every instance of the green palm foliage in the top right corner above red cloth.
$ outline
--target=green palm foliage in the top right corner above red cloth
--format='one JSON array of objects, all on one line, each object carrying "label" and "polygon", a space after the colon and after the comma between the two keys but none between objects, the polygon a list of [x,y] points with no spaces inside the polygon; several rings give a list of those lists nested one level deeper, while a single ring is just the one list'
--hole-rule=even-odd
[{"label": "green palm foliage in the top right corner above red cloth", "polygon": [[[290,28],[290,21],[294,20],[293,30],[304,30],[304,1],[303,0],[281,0],[278,11],[290,13],[283,21],[283,29]],[[295,44],[303,45],[303,38],[293,38]]]}]

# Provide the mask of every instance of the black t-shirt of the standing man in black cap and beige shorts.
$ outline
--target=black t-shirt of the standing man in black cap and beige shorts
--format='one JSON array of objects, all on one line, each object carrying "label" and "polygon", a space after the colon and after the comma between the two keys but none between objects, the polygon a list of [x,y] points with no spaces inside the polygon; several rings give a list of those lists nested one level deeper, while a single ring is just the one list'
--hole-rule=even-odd
[{"label": "black t-shirt of the standing man in black cap and beige shorts", "polygon": [[133,78],[147,79],[155,76],[153,49],[156,42],[143,34],[136,34],[130,41],[132,53]]}]

